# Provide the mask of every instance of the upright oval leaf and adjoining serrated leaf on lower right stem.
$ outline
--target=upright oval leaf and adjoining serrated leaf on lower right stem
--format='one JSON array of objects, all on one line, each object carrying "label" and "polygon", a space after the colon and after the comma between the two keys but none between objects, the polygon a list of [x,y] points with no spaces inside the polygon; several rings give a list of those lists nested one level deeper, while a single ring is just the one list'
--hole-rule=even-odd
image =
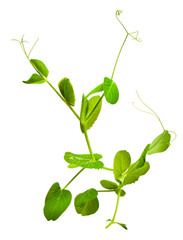
[{"label": "upright oval leaf and adjoining serrated leaf on lower right stem", "polygon": [[124,185],[136,182],[140,176],[146,174],[150,168],[148,162],[145,161],[145,156],[149,149],[148,144],[141,154],[140,158],[131,164],[131,156],[125,151],[119,151],[114,157],[114,177],[117,181]]}]

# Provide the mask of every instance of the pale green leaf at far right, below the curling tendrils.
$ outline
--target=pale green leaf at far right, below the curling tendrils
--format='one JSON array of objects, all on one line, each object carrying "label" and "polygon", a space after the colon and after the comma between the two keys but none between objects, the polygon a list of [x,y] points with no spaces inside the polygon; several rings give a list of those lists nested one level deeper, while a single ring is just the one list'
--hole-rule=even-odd
[{"label": "pale green leaf at far right, below the curling tendrils", "polygon": [[170,139],[171,135],[167,130],[165,130],[154,139],[147,154],[150,155],[153,153],[164,152],[170,146]]}]

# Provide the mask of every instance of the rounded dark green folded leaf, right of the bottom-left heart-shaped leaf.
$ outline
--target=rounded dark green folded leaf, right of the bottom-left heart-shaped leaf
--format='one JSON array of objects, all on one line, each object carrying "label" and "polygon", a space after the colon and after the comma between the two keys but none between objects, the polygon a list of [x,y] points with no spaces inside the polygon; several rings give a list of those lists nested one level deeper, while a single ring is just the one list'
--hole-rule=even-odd
[{"label": "rounded dark green folded leaf, right of the bottom-left heart-shaped leaf", "polygon": [[76,212],[82,216],[94,214],[99,208],[97,195],[98,192],[94,188],[78,194],[74,200]]}]

